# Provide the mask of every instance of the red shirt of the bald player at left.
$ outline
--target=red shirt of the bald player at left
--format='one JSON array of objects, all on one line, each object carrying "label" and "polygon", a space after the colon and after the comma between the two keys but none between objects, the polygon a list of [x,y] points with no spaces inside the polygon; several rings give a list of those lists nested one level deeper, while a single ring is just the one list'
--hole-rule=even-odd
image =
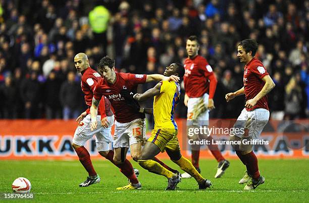
[{"label": "red shirt of the bald player at left", "polygon": [[[81,88],[82,91],[85,94],[85,102],[86,105],[90,108],[92,104],[92,97],[93,97],[93,90],[96,85],[96,83],[101,79],[102,77],[100,74],[98,74],[95,70],[91,69],[90,67],[87,68],[83,73],[81,77]],[[99,108],[98,108],[98,115],[103,116],[104,114],[101,114],[99,109],[105,109],[106,116],[113,116],[113,112],[111,110],[111,103],[108,99],[104,99],[103,103],[100,102]],[[104,113],[104,112],[102,112]]]}]

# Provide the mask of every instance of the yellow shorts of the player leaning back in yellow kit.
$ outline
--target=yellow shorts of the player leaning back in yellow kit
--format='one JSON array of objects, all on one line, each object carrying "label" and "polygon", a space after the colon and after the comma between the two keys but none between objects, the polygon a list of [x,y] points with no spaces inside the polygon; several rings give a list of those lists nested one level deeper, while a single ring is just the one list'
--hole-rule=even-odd
[{"label": "yellow shorts of the player leaning back in yellow kit", "polygon": [[153,129],[147,141],[156,144],[163,153],[166,148],[171,151],[180,150],[177,138],[178,130],[170,128]]}]

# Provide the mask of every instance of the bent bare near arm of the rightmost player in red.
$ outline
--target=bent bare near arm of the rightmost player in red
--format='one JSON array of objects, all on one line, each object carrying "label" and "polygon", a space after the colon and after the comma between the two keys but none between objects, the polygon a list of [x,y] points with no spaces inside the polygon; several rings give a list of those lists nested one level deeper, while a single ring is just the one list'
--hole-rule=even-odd
[{"label": "bent bare near arm of the rightmost player in red", "polygon": [[245,104],[246,108],[254,107],[261,98],[263,98],[275,87],[275,83],[269,75],[264,76],[262,80],[265,82],[264,87],[258,94],[256,94],[256,96],[254,96],[254,98],[247,100]]}]

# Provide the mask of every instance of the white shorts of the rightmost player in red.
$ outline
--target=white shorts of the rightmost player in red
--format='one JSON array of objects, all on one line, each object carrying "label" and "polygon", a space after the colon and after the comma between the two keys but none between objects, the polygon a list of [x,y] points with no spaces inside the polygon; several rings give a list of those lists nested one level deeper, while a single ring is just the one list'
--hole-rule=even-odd
[{"label": "white shorts of the rightmost player in red", "polygon": [[[244,108],[234,124],[233,135],[240,138],[250,137],[252,139],[258,139],[268,120],[269,111],[267,109],[259,108],[248,112]],[[238,130],[235,130],[235,128]]]}]

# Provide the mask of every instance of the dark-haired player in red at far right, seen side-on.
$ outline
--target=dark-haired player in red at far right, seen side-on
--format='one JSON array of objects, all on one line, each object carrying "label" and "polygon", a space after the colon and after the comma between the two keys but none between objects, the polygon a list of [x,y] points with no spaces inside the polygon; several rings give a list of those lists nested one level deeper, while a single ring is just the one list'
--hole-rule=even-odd
[{"label": "dark-haired player in red at far right, seen side-on", "polygon": [[239,184],[247,183],[244,190],[255,189],[265,181],[265,178],[260,175],[258,159],[252,151],[253,144],[246,144],[243,140],[259,138],[269,119],[267,94],[275,87],[262,62],[254,57],[257,49],[258,43],[253,39],[240,42],[237,57],[240,62],[245,63],[243,87],[225,95],[227,102],[243,94],[246,98],[245,108],[234,124],[234,128],[243,128],[244,133],[230,137],[230,140],[242,141],[240,145],[233,145],[233,147],[247,169],[244,177],[239,181]]}]

